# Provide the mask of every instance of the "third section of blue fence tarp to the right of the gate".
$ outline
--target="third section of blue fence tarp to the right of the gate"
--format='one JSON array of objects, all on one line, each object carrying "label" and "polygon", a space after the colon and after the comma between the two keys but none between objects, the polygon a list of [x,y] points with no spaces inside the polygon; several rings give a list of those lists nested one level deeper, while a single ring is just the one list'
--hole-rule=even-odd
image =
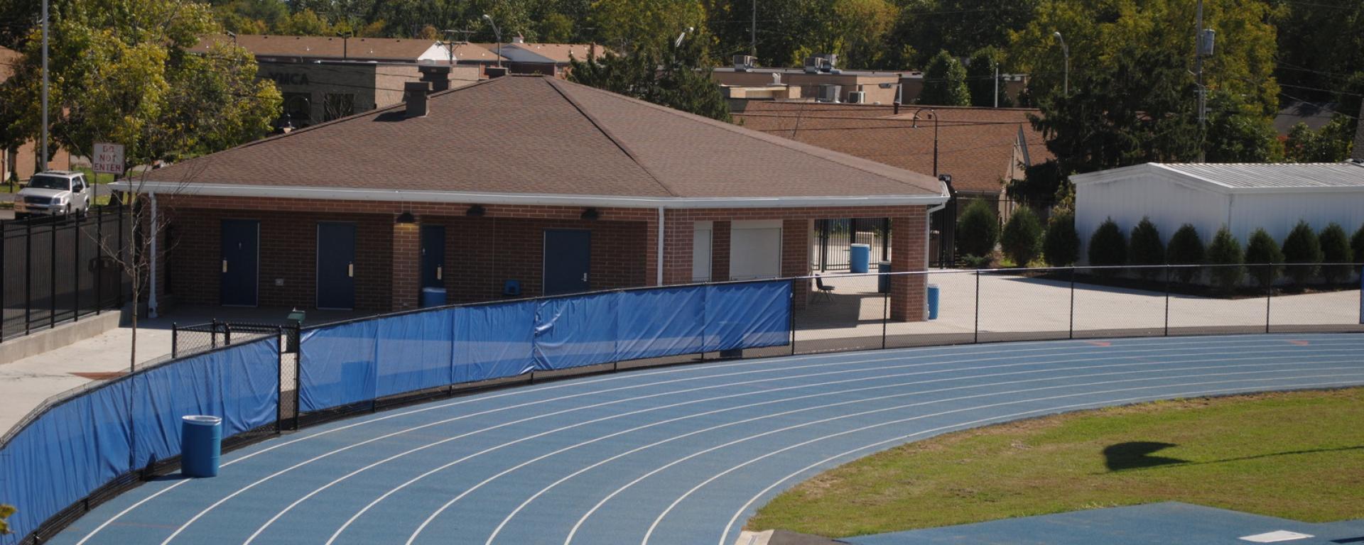
[{"label": "third section of blue fence tarp to the right of the gate", "polygon": [[473,383],[535,369],[536,307],[536,301],[518,301],[457,308],[453,382]]}]

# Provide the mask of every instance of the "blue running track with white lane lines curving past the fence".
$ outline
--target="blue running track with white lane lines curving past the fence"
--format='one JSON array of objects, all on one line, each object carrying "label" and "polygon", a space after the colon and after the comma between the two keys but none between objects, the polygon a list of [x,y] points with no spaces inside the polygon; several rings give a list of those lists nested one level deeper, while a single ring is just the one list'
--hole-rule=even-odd
[{"label": "blue running track with white lane lines curving past the fence", "polygon": [[821,470],[1109,405],[1364,384],[1364,335],[1061,341],[638,369],[357,417],[145,484],[53,544],[717,544]]}]

